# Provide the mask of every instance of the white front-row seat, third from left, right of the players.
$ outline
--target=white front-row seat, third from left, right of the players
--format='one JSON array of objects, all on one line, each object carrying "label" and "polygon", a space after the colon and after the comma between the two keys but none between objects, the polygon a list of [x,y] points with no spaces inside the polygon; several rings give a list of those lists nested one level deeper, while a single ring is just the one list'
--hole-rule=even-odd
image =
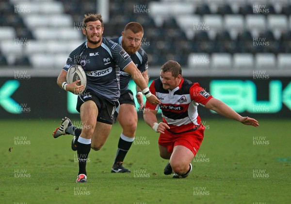
[{"label": "white front-row seat, third from left, right of the players", "polygon": [[236,70],[253,70],[254,56],[250,53],[234,53],[233,68]]}]

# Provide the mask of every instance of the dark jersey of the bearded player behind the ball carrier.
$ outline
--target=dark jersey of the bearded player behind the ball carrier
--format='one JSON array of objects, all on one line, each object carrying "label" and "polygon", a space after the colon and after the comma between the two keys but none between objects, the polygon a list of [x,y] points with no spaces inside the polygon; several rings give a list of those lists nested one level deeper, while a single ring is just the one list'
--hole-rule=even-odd
[{"label": "dark jersey of the bearded player behind the ball carrier", "polygon": [[[112,39],[113,42],[120,44],[121,46],[121,39],[122,36],[119,38]],[[141,71],[141,73],[145,72],[147,70],[148,64],[147,64],[147,54],[146,51],[143,48],[139,48],[139,50],[130,56],[131,60],[135,64],[135,66]],[[120,90],[121,93],[129,89],[129,81],[131,79],[131,75],[120,71]]]}]

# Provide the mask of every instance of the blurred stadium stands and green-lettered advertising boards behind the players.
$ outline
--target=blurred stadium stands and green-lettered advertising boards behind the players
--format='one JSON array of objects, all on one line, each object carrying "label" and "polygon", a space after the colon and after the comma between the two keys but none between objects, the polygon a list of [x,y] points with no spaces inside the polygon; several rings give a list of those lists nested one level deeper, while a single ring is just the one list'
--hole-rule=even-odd
[{"label": "blurred stadium stands and green-lettered advertising boards behind the players", "polygon": [[130,21],[143,25],[151,79],[177,60],[236,111],[290,117],[291,0],[1,0],[1,118],[72,114],[60,112],[70,96],[56,77],[85,40],[88,13],[103,15],[104,37],[120,36]]}]

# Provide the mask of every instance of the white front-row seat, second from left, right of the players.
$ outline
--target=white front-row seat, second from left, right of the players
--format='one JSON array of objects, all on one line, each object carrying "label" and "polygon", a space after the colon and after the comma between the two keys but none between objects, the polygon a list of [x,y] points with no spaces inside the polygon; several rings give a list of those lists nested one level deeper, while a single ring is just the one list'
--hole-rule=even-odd
[{"label": "white front-row seat, second from left, right of the players", "polygon": [[230,70],[232,68],[231,54],[213,53],[211,55],[210,66],[213,70]]}]

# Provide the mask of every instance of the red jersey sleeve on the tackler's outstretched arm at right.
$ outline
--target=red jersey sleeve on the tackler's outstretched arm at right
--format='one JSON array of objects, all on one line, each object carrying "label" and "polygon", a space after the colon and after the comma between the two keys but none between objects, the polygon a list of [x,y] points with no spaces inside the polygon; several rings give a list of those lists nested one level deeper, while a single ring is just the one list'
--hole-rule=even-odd
[{"label": "red jersey sleeve on the tackler's outstretched arm at right", "polygon": [[206,103],[213,98],[204,88],[200,87],[198,83],[194,83],[190,88],[190,96],[194,102],[206,105]]}]

